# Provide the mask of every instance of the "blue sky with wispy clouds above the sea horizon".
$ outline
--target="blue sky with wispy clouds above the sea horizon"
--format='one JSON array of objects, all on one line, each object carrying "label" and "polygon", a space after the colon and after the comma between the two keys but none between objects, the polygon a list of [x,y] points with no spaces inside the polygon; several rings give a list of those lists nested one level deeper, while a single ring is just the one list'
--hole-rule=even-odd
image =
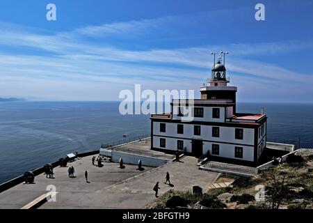
[{"label": "blue sky with wispy clouds above the sea horizon", "polygon": [[239,101],[313,102],[312,21],[310,0],[1,1],[0,97],[118,100],[134,84],[199,95],[209,52],[224,49]]}]

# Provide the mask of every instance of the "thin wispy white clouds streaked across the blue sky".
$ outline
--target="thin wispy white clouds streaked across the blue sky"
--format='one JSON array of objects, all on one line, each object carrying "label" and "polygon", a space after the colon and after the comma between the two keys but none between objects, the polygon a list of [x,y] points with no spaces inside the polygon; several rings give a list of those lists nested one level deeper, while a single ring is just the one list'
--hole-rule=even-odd
[{"label": "thin wispy white clouds streaked across the blue sky", "polygon": [[[166,23],[166,20],[169,18],[87,26],[74,30],[72,33],[98,37],[107,33],[124,35],[127,32],[136,32],[136,30],[144,32],[145,29],[157,29],[158,24]],[[292,86],[301,89],[302,92],[313,93],[309,87],[313,84],[312,74],[298,73],[272,63],[250,59],[251,55],[292,52],[305,47],[312,49],[313,44],[310,41],[306,43],[286,41],[250,45],[206,45],[139,51],[104,47],[90,41],[83,41],[80,36],[76,38],[74,38],[75,35],[70,35],[71,38],[63,36],[64,33],[42,35],[26,29],[20,31],[8,29],[7,26],[3,28],[1,25],[0,31],[3,33],[0,36],[0,45],[40,49],[44,53],[40,56],[29,56],[22,52],[15,55],[5,52],[0,54],[0,89],[16,92],[15,94],[18,92],[24,94],[27,89],[29,92],[35,92],[31,89],[37,87],[42,91],[42,95],[53,98],[53,94],[58,91],[57,82],[66,82],[69,88],[72,88],[73,93],[78,92],[77,89],[74,89],[75,86],[81,87],[83,84],[88,84],[90,87],[85,89],[90,89],[90,92],[84,98],[97,98],[99,91],[93,91],[92,86],[104,88],[110,86],[109,89],[113,89],[115,86],[115,90],[112,92],[134,84],[143,84],[151,89],[170,89],[172,86],[175,88],[182,86],[184,89],[197,90],[201,82],[210,75],[211,57],[209,52],[219,49],[227,49],[231,52],[232,56],[230,59],[227,58],[227,68],[229,68],[230,74],[234,72],[234,82],[240,84],[243,91],[253,92],[266,89],[268,95],[275,92],[282,96],[284,95],[282,90],[290,89]],[[23,81],[26,83],[22,87],[24,91],[19,91],[19,87],[14,86],[14,81],[21,82],[26,79],[32,83],[50,83],[47,86],[54,89],[45,90],[44,87]],[[268,89],[268,86],[273,85],[275,85],[275,89]],[[279,92],[278,89],[281,91]],[[49,93],[45,94],[45,91],[49,91]],[[294,92],[300,95],[301,91]],[[56,95],[58,95],[57,98],[60,98],[59,93]],[[118,94],[110,95],[109,99],[116,99],[117,96]],[[75,95],[68,97],[67,99],[72,99],[75,98]]]}]

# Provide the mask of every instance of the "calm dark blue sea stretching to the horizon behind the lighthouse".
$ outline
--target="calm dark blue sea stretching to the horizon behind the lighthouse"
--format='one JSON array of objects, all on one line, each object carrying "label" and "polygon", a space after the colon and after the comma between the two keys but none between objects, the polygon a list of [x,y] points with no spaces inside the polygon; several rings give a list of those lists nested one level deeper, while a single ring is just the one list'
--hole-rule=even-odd
[{"label": "calm dark blue sea stretching to the horizon behind the lighthouse", "polygon": [[[122,115],[120,102],[0,102],[0,183],[59,160],[150,135],[150,116]],[[313,104],[237,103],[268,116],[268,141],[313,148]]]}]

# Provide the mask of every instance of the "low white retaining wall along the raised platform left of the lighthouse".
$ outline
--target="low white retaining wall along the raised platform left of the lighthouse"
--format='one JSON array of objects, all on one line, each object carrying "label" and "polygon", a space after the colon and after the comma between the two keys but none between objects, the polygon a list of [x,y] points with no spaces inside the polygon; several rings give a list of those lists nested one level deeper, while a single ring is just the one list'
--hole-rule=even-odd
[{"label": "low white retaining wall along the raised platform left of the lighthouse", "polygon": [[137,165],[138,160],[141,160],[143,166],[147,167],[160,167],[163,164],[172,162],[172,160],[162,159],[159,157],[150,157],[147,155],[126,153],[122,151],[111,151],[105,148],[100,149],[100,154],[111,157],[112,162],[120,162],[120,158],[122,158],[124,163]]}]

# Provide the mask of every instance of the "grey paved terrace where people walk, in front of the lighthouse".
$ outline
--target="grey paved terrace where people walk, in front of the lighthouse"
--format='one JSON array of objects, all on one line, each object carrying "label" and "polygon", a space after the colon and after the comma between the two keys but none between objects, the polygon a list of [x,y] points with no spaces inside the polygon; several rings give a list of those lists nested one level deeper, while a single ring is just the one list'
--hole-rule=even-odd
[{"label": "grey paved terrace where people walk, in front of the lighthouse", "polygon": [[[141,143],[129,145],[137,148],[136,144]],[[191,190],[193,185],[207,190],[218,176],[199,170],[195,157],[184,157],[182,162],[171,162],[158,168],[144,167],[144,171],[138,171],[137,166],[130,164],[120,169],[119,164],[113,162],[104,162],[103,167],[93,166],[91,157],[67,164],[76,169],[75,178],[67,176],[67,167],[56,167],[54,179],[40,174],[35,177],[34,184],[21,183],[0,193],[0,208],[22,208],[46,194],[48,185],[56,186],[56,202],[44,203],[40,208],[143,208],[155,199],[152,188],[157,181],[161,187],[159,194],[163,194],[170,189]],[[90,183],[86,183],[84,177],[86,170]],[[170,173],[174,187],[163,183],[166,171]]]}]

